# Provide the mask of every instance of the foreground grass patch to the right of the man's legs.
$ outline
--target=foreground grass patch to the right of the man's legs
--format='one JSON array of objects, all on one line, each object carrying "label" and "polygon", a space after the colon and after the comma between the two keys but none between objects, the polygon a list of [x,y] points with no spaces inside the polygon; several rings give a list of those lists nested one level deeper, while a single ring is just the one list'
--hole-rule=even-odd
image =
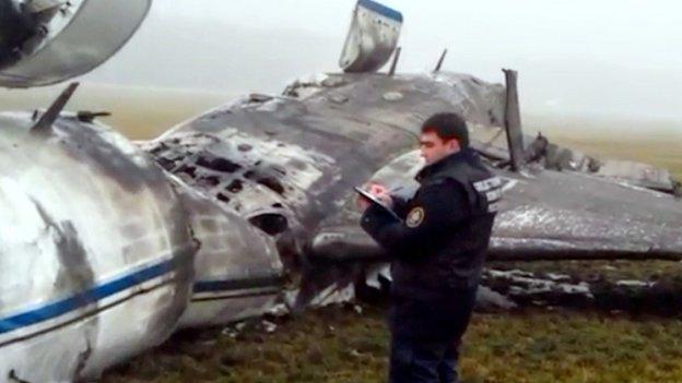
[{"label": "foreground grass patch to the right of the man's legs", "polygon": [[682,322],[572,312],[475,315],[468,382],[680,382]]}]

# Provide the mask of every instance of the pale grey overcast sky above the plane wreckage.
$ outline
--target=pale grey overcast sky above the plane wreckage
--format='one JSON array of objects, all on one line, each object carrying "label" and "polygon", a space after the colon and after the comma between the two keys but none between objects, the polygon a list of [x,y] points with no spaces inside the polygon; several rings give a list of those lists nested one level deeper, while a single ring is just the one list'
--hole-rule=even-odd
[{"label": "pale grey overcast sky above the plane wreckage", "polygon": [[[400,71],[487,81],[520,72],[527,112],[682,121],[682,4],[626,0],[386,0],[404,16]],[[336,71],[354,0],[155,0],[93,81],[274,93]]]}]

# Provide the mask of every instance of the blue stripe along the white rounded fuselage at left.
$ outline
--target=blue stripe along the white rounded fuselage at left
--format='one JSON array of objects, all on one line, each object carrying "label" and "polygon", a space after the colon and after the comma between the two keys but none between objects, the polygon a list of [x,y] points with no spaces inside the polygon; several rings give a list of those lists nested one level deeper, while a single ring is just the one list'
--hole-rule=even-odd
[{"label": "blue stripe along the white rounded fuselage at left", "polygon": [[132,274],[127,274],[99,286],[95,286],[69,298],[47,303],[37,309],[32,309],[12,316],[0,318],[0,334],[52,320],[67,314],[70,311],[78,310],[101,299],[121,292],[128,288],[141,285],[170,272],[174,268],[173,263],[173,260],[156,263],[138,270]]}]

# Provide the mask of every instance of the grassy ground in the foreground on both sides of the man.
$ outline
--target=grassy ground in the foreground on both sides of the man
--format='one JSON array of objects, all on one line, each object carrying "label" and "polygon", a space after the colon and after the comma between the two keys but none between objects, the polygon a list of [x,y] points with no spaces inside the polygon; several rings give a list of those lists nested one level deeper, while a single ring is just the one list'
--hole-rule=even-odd
[{"label": "grassy ground in the foreground on both sides of the man", "polygon": [[[381,382],[384,311],[343,308],[250,327],[185,333],[105,374],[104,382]],[[465,382],[681,382],[682,322],[571,311],[474,314]]]}]

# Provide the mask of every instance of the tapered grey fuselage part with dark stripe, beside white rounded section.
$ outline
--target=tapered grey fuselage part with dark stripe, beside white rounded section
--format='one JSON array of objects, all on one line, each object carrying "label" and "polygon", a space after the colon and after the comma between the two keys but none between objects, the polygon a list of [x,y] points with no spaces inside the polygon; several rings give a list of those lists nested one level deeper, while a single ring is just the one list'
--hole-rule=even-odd
[{"label": "tapered grey fuselage part with dark stripe, beside white rounded section", "polygon": [[215,199],[166,177],[199,244],[192,296],[179,326],[224,325],[272,309],[283,283],[274,241]]}]

